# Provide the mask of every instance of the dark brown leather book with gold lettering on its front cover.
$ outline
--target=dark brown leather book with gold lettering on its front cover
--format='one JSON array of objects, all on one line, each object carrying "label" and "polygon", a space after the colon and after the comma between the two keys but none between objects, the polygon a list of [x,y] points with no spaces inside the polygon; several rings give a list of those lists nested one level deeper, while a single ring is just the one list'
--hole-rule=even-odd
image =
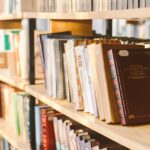
[{"label": "dark brown leather book with gold lettering on its front cover", "polygon": [[108,51],[122,125],[150,122],[150,49]]}]

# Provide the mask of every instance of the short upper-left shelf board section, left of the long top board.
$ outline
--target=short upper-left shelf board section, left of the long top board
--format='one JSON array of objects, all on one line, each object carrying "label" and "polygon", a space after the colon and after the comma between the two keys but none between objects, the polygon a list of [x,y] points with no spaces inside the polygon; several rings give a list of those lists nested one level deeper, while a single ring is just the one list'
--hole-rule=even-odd
[{"label": "short upper-left shelf board section, left of the long top board", "polygon": [[15,13],[15,14],[0,14],[0,20],[21,20],[23,18],[23,14]]}]

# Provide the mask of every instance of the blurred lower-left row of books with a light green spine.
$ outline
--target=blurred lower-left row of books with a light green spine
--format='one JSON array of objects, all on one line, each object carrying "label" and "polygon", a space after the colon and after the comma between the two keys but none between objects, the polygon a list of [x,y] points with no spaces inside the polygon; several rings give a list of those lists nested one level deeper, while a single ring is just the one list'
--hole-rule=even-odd
[{"label": "blurred lower-left row of books with a light green spine", "polygon": [[30,141],[30,98],[7,84],[0,84],[0,117],[11,124],[16,135]]}]

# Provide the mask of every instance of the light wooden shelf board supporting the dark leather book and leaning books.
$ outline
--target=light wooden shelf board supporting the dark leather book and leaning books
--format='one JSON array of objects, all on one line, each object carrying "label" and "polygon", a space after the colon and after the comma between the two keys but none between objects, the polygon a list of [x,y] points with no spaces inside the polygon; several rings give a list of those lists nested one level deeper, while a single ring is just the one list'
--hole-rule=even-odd
[{"label": "light wooden shelf board supporting the dark leather book and leaning books", "polygon": [[132,150],[149,150],[150,148],[150,125],[132,127],[107,125],[88,113],[75,111],[73,105],[66,100],[50,98],[46,94],[44,85],[26,86],[25,91],[73,120]]}]

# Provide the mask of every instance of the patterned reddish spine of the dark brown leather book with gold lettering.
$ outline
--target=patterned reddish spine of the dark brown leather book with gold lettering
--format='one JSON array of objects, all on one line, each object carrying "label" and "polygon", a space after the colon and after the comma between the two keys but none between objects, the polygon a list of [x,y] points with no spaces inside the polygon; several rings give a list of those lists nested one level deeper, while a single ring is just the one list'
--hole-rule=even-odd
[{"label": "patterned reddish spine of the dark brown leather book with gold lettering", "polygon": [[122,98],[121,98],[121,93],[120,93],[120,89],[119,89],[117,70],[115,67],[115,60],[113,57],[112,50],[109,50],[107,52],[107,56],[108,56],[108,60],[109,60],[109,65],[110,65],[110,70],[111,70],[111,75],[112,75],[112,81],[113,81],[113,85],[115,88],[115,94],[116,94],[116,99],[117,99],[117,103],[118,103],[118,109],[119,109],[121,124],[125,125],[126,123],[125,123],[125,116],[123,113]]}]

